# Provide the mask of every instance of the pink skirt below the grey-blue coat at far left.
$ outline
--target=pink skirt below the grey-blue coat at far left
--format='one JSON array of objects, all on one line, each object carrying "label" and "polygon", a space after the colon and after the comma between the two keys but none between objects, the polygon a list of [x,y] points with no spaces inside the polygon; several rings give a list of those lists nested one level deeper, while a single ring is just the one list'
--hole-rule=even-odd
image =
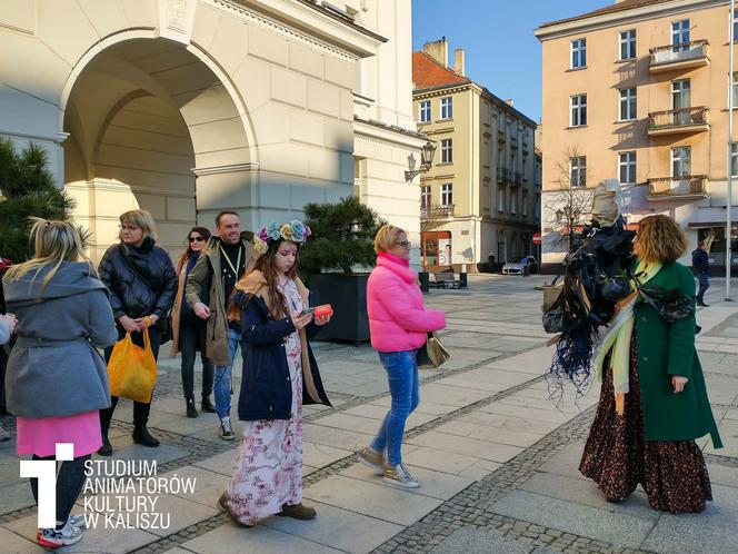
[{"label": "pink skirt below the grey-blue coat at far left", "polygon": [[18,454],[53,456],[57,443],[74,445],[74,457],[87,456],[102,446],[100,413],[96,409],[63,417],[18,417]]}]

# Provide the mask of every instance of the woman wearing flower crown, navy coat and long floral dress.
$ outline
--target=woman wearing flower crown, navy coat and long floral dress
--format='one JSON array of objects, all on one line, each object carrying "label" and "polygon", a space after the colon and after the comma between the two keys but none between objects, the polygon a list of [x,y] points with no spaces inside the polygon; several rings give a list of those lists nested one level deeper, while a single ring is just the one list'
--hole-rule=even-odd
[{"label": "woman wearing flower crown, navy coat and long floral dress", "polygon": [[236,285],[229,318],[240,317],[243,370],[238,415],[245,422],[233,477],[220,506],[239,525],[270,515],[312,520],[302,504],[302,405],[330,406],[308,334],[330,316],[303,314],[308,290],[297,276],[310,228],[292,220],[262,227],[253,269]]}]

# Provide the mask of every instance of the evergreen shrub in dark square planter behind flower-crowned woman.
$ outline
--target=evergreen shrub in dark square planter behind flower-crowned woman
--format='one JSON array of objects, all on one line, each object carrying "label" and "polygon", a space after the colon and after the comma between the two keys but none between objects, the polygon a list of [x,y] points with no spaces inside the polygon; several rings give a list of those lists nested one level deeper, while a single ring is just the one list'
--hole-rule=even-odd
[{"label": "evergreen shrub in dark square planter behind flower-crowned woman", "polygon": [[361,343],[369,339],[367,281],[376,255],[373,239],[385,224],[357,197],[305,206],[311,240],[300,251],[312,304],[330,304],[333,317],[318,339]]}]

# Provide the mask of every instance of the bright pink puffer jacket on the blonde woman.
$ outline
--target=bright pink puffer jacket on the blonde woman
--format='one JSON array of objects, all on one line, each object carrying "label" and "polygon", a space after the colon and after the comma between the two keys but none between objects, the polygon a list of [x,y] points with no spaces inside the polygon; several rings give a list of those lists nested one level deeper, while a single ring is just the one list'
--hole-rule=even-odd
[{"label": "bright pink puffer jacket on the blonde woman", "polygon": [[369,276],[367,313],[371,346],[379,352],[419,348],[428,332],[446,327],[442,311],[423,308],[418,274],[410,263],[387,253],[377,256]]}]

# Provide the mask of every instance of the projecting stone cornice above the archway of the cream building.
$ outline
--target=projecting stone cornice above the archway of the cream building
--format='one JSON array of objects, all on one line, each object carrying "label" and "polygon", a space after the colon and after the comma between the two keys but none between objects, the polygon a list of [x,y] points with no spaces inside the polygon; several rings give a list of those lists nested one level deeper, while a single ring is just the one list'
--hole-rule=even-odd
[{"label": "projecting stone cornice above the archway of the cream building", "polygon": [[377,55],[387,41],[357,24],[337,24],[338,16],[301,0],[200,0],[237,13],[249,23],[350,60]]}]

